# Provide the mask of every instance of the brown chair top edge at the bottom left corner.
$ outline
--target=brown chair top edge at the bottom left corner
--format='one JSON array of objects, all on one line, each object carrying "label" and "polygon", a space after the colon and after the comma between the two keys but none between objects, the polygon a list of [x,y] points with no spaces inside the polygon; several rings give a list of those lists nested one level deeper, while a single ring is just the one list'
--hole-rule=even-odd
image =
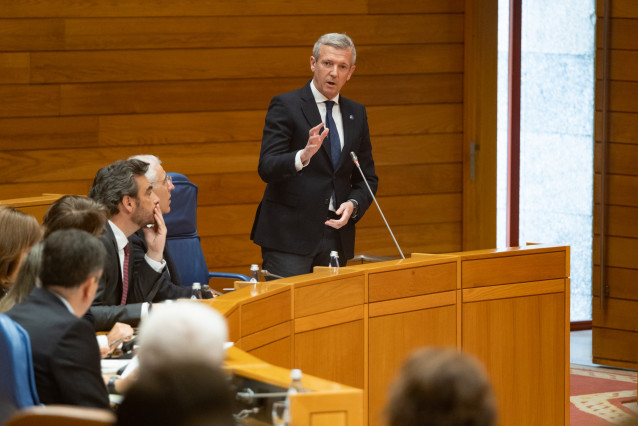
[{"label": "brown chair top edge at the bottom left corner", "polygon": [[5,426],[111,426],[115,420],[109,410],[47,405],[20,410]]}]

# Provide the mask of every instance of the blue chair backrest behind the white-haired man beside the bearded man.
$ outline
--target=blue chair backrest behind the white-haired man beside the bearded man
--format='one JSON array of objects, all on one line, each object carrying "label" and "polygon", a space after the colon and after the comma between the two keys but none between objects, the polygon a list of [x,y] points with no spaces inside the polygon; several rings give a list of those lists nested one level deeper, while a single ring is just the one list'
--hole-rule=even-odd
[{"label": "blue chair backrest behind the white-haired man beside the bearded man", "polygon": [[182,174],[168,174],[175,186],[171,192],[171,212],[164,215],[168,250],[182,285],[208,284],[208,267],[197,235],[197,185]]}]

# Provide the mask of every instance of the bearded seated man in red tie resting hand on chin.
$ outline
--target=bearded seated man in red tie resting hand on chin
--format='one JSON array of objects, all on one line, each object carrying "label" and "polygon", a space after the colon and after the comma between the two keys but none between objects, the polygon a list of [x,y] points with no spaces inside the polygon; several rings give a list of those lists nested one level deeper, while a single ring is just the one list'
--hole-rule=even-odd
[{"label": "bearded seated man in red tie resting hand on chin", "polygon": [[[143,161],[116,161],[97,172],[89,192],[110,215],[100,238],[106,248],[104,273],[88,314],[97,331],[116,322],[137,326],[161,286],[166,225],[147,170]],[[148,250],[144,262],[134,265],[128,237],[140,228]]]}]

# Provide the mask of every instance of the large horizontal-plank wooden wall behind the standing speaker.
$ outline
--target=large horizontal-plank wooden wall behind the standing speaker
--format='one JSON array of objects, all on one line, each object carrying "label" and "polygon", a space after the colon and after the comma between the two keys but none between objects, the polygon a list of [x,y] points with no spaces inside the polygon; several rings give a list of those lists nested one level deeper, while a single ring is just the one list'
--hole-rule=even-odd
[{"label": "large horizontal-plank wooden wall behind the standing speaker", "polygon": [[[261,259],[249,233],[268,103],[312,77],[321,30],[308,28],[325,14],[357,44],[343,94],[368,107],[379,201],[404,251],[458,251],[464,12],[464,0],[320,10],[308,0],[0,0],[0,199],[86,194],[100,167],[156,154],[199,186],[210,269],[247,273]],[[396,254],[375,207],[357,251]]]}]

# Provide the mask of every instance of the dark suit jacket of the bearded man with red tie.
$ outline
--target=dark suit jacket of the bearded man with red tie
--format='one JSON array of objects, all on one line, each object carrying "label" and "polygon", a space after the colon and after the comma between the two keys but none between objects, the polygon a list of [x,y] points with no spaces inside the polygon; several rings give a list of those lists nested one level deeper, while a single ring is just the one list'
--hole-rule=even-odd
[{"label": "dark suit jacket of the bearded man with red tie", "polygon": [[96,331],[110,330],[116,322],[136,327],[140,322],[142,303],[153,301],[160,286],[159,281],[162,274],[155,272],[146,262],[135,265],[133,256],[130,255],[128,295],[126,296],[126,305],[120,305],[122,300],[122,273],[120,271],[122,267],[117,241],[108,223],[104,228],[105,233],[100,237],[106,248],[104,271],[87,317],[92,318]]}]

